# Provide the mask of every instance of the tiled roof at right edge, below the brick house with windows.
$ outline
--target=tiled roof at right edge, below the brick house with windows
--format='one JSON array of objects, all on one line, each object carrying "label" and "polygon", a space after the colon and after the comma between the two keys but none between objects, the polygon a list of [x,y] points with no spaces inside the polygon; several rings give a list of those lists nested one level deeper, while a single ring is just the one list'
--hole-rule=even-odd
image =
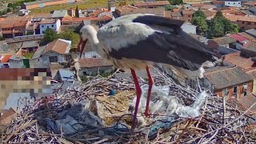
[{"label": "tiled roof at right edge, below the brick house with windows", "polygon": [[[242,104],[246,108],[246,110],[256,102],[256,94],[250,93],[247,94],[245,97],[238,99],[238,102]],[[250,112],[256,113],[256,106],[250,109]]]}]

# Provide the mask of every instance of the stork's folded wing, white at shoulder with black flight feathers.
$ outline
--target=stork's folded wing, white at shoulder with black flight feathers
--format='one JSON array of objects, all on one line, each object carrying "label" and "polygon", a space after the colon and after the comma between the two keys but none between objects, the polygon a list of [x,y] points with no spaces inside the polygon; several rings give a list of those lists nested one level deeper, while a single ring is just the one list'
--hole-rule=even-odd
[{"label": "stork's folded wing, white at shoulder with black flight feathers", "polygon": [[[98,40],[111,57],[134,58],[198,70],[214,53],[182,31],[182,21],[154,15],[116,18],[98,31]],[[217,55],[215,55],[217,56]]]}]

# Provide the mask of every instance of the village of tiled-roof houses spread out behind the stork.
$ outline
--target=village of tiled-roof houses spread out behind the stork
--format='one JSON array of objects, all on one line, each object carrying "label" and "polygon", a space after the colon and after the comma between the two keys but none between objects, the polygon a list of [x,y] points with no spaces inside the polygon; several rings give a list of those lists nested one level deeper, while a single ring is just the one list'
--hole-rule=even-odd
[{"label": "village of tiled-roof houses spread out behind the stork", "polygon": [[[0,67],[1,68],[50,68],[52,78],[62,82],[66,77],[74,75],[70,71],[70,63],[76,54],[76,44],[72,40],[58,38],[42,46],[44,32],[47,29],[56,31],[78,31],[87,24],[99,29],[107,22],[126,14],[147,13],[166,18],[183,20],[182,30],[205,43],[211,49],[225,55],[225,67],[214,67],[206,70],[205,78],[200,80],[203,88],[209,89],[219,97],[226,96],[229,101],[239,102],[246,108],[256,102],[256,2],[250,0],[223,0],[210,2],[183,2],[171,5],[169,1],[140,1],[117,4],[107,1],[107,7],[82,10],[79,3],[75,9],[54,10],[44,14],[30,14],[34,8],[66,3],[63,0],[42,0],[25,2],[15,14],[0,18]],[[68,2],[77,2],[69,0]],[[196,26],[194,13],[200,10],[206,23],[217,14],[222,14],[228,22],[238,26],[231,33],[218,34],[209,38]],[[194,21],[194,22],[193,22]],[[217,27],[218,28],[218,27]],[[215,32],[213,32],[215,33]],[[102,73],[110,74],[114,66],[106,62],[90,46],[78,61],[80,77]],[[170,77],[186,86],[196,87],[197,82],[180,79],[168,66],[159,66]],[[124,73],[125,74],[125,73]],[[117,77],[123,77],[118,74]],[[256,113],[256,107],[251,109]]]}]

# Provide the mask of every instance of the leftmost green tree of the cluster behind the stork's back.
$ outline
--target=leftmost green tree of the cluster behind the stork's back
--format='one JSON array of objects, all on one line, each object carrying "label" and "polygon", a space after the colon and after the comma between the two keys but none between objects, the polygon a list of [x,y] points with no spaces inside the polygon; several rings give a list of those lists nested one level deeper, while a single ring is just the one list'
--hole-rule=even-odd
[{"label": "leftmost green tree of the cluster behind the stork's back", "polygon": [[206,19],[203,17],[193,17],[191,23],[197,26],[197,33],[198,34],[206,34],[206,30],[208,30],[208,25]]}]

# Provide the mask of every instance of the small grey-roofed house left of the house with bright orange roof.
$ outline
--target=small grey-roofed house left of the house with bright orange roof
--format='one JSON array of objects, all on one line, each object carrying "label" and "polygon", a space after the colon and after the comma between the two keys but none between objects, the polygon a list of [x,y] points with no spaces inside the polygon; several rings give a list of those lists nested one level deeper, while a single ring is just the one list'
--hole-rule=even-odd
[{"label": "small grey-roofed house left of the house with bright orange roof", "polygon": [[23,42],[21,51],[22,55],[25,56],[28,53],[34,53],[39,47],[39,42],[32,41],[32,42]]}]

